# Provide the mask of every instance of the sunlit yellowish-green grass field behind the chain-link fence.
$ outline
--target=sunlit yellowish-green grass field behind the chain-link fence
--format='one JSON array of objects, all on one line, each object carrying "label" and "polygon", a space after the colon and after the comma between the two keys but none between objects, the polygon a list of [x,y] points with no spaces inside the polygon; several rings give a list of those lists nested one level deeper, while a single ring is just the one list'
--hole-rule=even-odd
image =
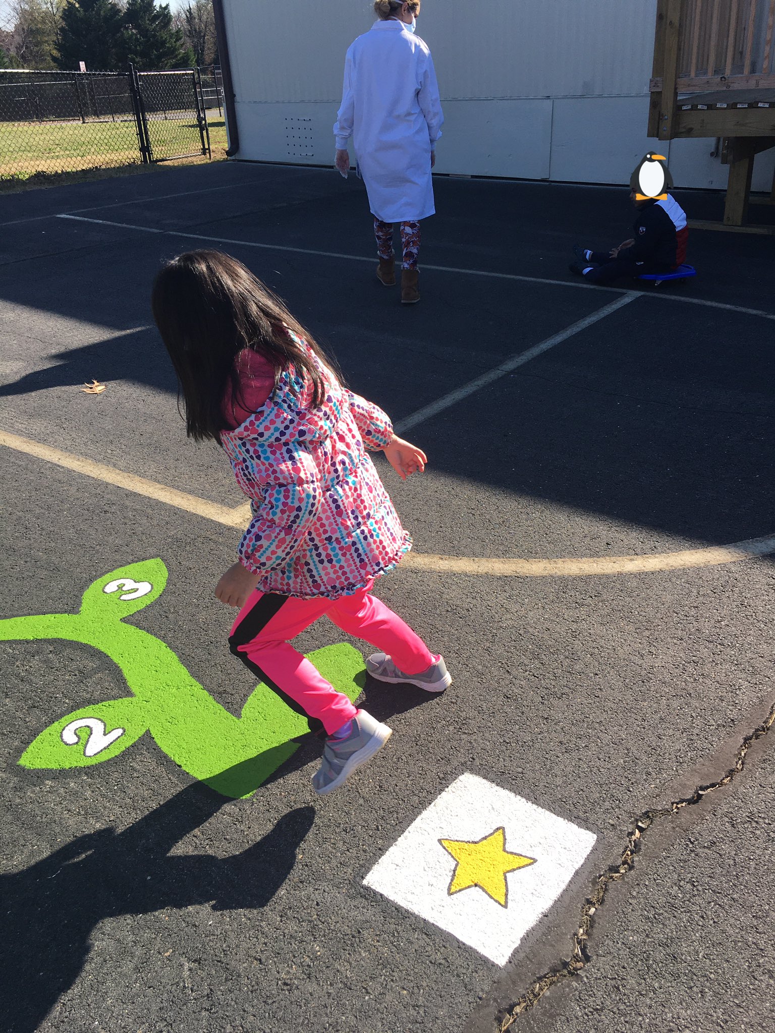
[{"label": "sunlit yellowish-green grass field behind the chain-link fence", "polygon": [[[213,158],[223,158],[225,123],[215,120],[209,127]],[[189,119],[149,119],[149,135],[155,158],[196,150],[199,140]],[[0,188],[140,163],[134,122],[0,123]]]}]

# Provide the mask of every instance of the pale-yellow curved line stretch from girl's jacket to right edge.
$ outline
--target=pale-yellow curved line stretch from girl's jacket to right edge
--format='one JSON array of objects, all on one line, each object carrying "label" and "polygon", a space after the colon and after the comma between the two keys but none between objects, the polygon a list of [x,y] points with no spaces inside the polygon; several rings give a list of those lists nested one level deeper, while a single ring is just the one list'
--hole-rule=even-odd
[{"label": "pale-yellow curved line stretch from girl's jacket to right edge", "polygon": [[640,574],[660,570],[686,570],[738,563],[775,553],[775,534],[736,541],[732,545],[687,549],[650,556],[597,556],[588,559],[522,560],[475,556],[433,556],[407,553],[401,566],[450,574],[486,574],[491,577],[579,577],[585,574]]}]

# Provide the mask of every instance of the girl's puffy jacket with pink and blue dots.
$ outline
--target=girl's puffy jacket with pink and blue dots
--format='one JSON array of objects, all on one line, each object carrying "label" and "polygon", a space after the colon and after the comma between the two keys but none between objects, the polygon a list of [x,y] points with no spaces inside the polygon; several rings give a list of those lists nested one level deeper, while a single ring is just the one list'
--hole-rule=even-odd
[{"label": "girl's puffy jacket with pink and blue dots", "polygon": [[321,406],[310,406],[312,387],[291,366],[221,444],[250,499],[238,552],[261,574],[258,589],[338,599],[395,567],[411,537],[366,451],[392,440],[390,418],[315,363],[328,382]]}]

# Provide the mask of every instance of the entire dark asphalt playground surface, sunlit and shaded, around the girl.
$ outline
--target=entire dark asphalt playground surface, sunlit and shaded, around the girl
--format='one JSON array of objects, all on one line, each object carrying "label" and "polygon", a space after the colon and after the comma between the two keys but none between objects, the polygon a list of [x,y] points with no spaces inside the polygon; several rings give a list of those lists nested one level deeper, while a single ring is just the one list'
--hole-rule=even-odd
[{"label": "entire dark asphalt playground surface, sunlit and shaded, around the girl", "polygon": [[[3,1031],[772,1028],[775,544],[729,562],[707,550],[775,534],[773,238],[693,231],[696,279],[630,294],[567,272],[574,243],[627,236],[626,187],[437,178],[436,192],[409,310],[374,278],[362,184],[332,171],[220,163],[0,197],[2,618],[74,615],[96,582],[85,613],[95,598],[120,606],[105,575],[156,558],[167,572],[161,591],[160,567],[132,567],[153,593],[120,623],[152,639],[0,620]],[[718,195],[677,196],[690,217],[720,217]],[[254,683],[225,647],[233,615],[213,596],[239,529],[94,466],[243,501],[220,450],[186,441],[152,326],[159,262],[198,246],[276,289],[429,456],[406,484],[380,463],[428,563],[376,591],[455,681],[429,698],[362,678],[363,706],[394,737],[326,799],[310,737],[288,734],[298,749],[260,780],[219,739],[258,727]],[[103,394],[80,389],[92,378]],[[516,576],[438,561],[628,556],[653,569]],[[299,645],[341,641],[320,621]],[[182,700],[166,725],[193,753],[231,757],[224,770],[255,791],[233,799],[193,776],[190,750],[136,723],[146,691]],[[87,762],[85,735],[66,745],[63,718],[127,698],[109,759]],[[47,728],[39,766],[20,764]],[[757,728],[733,778],[677,806],[735,771]],[[506,906],[479,883],[451,895],[437,839],[399,856],[407,831],[430,843],[434,815],[469,844],[472,821],[482,836],[501,825],[529,855],[502,876]],[[380,863],[390,891],[372,884]],[[469,931],[448,931],[458,903]],[[580,921],[584,964],[563,975]]]}]

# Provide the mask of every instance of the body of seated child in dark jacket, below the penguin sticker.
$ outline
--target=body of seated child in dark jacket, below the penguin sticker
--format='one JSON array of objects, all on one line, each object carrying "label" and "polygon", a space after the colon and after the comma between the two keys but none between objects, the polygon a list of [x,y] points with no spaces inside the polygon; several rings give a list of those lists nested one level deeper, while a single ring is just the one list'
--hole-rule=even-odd
[{"label": "body of seated child in dark jacket, below the penguin sticker", "polygon": [[571,273],[591,283],[611,283],[642,273],[672,273],[686,260],[689,234],[686,213],[675,197],[668,194],[664,200],[652,197],[637,200],[631,190],[629,197],[638,209],[632,224],[634,237],[608,254],[577,245],[574,248],[577,260],[569,267]]}]

